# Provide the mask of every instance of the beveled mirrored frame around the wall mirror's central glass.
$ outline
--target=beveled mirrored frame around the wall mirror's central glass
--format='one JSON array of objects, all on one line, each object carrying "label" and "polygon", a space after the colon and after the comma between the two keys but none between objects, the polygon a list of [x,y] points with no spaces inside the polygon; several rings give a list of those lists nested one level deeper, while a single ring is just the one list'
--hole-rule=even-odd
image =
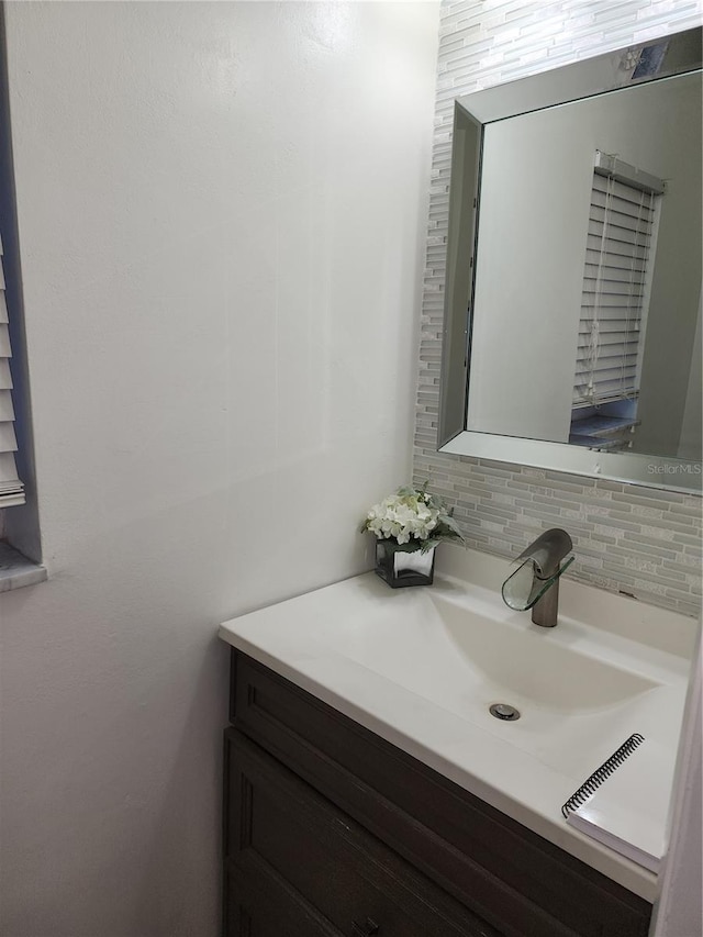
[{"label": "beveled mirrored frame around the wall mirror's central glass", "polygon": [[[456,100],[455,144],[457,124],[460,123],[464,131],[464,154],[460,165],[457,165],[457,148],[456,145],[453,147],[450,193],[460,187],[461,198],[450,199],[449,209],[437,444],[439,451],[591,478],[606,478],[648,488],[701,493],[703,470],[698,461],[636,453],[598,451],[565,443],[478,433],[468,431],[466,425],[471,323],[476,314],[475,257],[480,247],[478,235],[484,125],[609,91],[700,71],[703,64],[702,38],[702,29],[673,33],[573,65],[487,88]],[[666,54],[656,72],[634,78],[631,66],[639,60],[640,53],[661,46],[662,43],[667,44]],[[465,238],[468,238],[473,247],[471,271],[468,274],[471,280],[468,292],[469,308],[466,315],[456,315],[453,293],[457,277],[457,258],[453,256],[453,245],[461,227]],[[462,401],[462,405],[458,405],[457,401]]]}]

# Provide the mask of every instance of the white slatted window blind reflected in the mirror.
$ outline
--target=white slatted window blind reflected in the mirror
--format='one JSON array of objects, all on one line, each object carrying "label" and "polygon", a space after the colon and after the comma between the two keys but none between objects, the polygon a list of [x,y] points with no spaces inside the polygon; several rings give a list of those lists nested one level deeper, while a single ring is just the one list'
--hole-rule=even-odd
[{"label": "white slatted window blind reflected in the mirror", "polygon": [[663,182],[596,152],[573,406],[636,398]]}]

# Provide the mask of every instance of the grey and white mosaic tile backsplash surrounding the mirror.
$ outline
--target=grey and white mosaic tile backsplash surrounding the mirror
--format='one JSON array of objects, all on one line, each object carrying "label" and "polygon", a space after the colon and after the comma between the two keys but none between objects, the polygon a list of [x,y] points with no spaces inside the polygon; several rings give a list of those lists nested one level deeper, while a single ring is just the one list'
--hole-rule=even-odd
[{"label": "grey and white mosaic tile backsplash surrounding the mirror", "polygon": [[560,526],[577,557],[567,576],[692,616],[701,609],[700,498],[444,455],[436,421],[454,99],[702,22],[699,0],[443,2],[413,469],[455,506],[469,546],[515,556]]}]

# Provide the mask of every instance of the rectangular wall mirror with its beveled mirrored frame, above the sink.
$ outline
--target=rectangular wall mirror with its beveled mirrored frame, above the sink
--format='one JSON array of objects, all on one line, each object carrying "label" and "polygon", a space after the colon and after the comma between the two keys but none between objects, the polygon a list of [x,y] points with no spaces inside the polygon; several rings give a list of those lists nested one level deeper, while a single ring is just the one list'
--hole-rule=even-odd
[{"label": "rectangular wall mirror with its beveled mirrored frame, above the sink", "polygon": [[701,52],[457,99],[442,451],[700,492]]}]

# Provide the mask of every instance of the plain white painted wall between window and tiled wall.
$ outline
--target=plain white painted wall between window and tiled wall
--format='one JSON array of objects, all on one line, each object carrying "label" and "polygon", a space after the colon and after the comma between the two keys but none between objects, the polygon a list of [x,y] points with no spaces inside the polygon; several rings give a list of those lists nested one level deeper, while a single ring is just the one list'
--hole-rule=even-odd
[{"label": "plain white painted wall between window and tiled wall", "polygon": [[7,4],[44,557],[0,596],[12,937],[215,935],[224,617],[409,478],[436,3]]}]

